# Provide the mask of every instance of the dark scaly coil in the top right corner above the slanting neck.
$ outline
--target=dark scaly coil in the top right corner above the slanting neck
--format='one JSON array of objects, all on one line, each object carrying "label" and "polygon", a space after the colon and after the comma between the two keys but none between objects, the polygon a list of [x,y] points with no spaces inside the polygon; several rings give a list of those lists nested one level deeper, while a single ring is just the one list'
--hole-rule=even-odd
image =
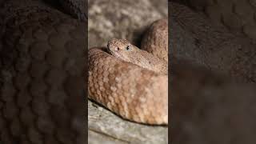
[{"label": "dark scaly coil in the top right corner above the slanting neck", "polygon": [[201,11],[217,25],[224,25],[229,30],[245,34],[256,39],[256,2],[254,0],[173,0]]}]

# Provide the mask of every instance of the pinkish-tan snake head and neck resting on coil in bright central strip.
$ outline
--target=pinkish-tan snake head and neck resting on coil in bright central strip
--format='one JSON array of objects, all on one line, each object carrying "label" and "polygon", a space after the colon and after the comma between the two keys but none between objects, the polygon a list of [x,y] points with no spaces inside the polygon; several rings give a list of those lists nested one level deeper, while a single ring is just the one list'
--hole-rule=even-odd
[{"label": "pinkish-tan snake head and neck resting on coil in bright central strip", "polygon": [[166,61],[145,50],[140,50],[137,46],[130,44],[125,39],[114,38],[108,42],[107,48],[114,57],[120,58],[123,61],[153,70],[156,73],[168,73],[168,64]]}]

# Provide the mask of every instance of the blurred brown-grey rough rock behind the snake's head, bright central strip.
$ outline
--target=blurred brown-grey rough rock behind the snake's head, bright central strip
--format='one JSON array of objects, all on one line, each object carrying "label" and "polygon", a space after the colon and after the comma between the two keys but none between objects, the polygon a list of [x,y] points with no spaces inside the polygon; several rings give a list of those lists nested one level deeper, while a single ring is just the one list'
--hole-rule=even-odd
[{"label": "blurred brown-grey rough rock behind the snake's head, bright central strip", "polygon": [[146,26],[167,17],[167,2],[161,0],[155,6],[150,0],[90,0],[88,12],[89,48],[106,46],[111,38],[125,38],[138,46]]}]

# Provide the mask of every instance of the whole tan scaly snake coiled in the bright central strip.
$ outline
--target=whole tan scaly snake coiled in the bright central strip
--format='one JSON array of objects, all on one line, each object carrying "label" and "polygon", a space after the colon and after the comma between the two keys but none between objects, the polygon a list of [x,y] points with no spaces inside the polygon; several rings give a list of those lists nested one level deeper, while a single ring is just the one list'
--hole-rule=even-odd
[{"label": "whole tan scaly snake coiled in the bright central strip", "polygon": [[[158,20],[152,26],[159,26],[162,22],[166,20]],[[158,27],[150,30],[154,30],[150,34],[159,33]],[[161,38],[167,42],[167,33]],[[154,50],[162,51],[164,45],[161,43],[158,49],[154,46]],[[139,50],[126,40],[113,39],[108,43],[108,49],[112,55],[106,53],[106,49],[91,48],[89,51],[90,98],[122,118],[147,124],[167,124],[167,62]]]}]

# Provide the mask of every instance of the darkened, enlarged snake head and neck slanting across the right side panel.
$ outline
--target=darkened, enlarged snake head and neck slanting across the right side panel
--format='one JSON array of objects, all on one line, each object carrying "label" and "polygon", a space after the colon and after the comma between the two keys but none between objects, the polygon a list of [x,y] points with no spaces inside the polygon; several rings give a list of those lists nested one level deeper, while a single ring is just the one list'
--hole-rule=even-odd
[{"label": "darkened, enlarged snake head and neck slanting across the right side panel", "polygon": [[225,26],[215,26],[204,14],[169,2],[170,54],[190,58],[221,71],[238,82],[256,82],[256,43]]}]

